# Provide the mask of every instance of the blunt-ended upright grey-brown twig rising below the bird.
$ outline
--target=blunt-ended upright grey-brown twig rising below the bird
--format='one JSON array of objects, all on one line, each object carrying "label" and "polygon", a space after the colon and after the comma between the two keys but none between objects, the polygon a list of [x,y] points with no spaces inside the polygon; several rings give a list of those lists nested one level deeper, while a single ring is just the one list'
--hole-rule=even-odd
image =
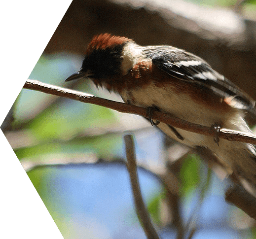
[{"label": "blunt-ended upright grey-brown twig rising below the bird", "polygon": [[137,215],[141,220],[146,237],[148,239],[159,239],[153,227],[153,224],[151,223],[150,216],[147,212],[146,206],[142,199],[142,193],[141,193],[140,185],[138,181],[136,157],[135,157],[134,142],[133,142],[132,136],[131,135],[124,136],[124,142],[125,142],[125,149],[126,149],[126,157],[128,161],[127,169],[130,175],[133,199],[135,202]]}]

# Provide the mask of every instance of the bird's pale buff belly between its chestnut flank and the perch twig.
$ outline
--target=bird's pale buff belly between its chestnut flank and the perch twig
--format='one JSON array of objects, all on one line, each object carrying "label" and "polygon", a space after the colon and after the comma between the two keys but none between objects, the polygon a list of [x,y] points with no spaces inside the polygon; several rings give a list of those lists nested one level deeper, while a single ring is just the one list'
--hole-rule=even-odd
[{"label": "bird's pale buff belly between its chestnut flank and the perch twig", "polygon": [[151,83],[145,88],[135,89],[130,92],[124,91],[121,97],[125,102],[134,99],[134,104],[138,106],[149,107],[155,105],[162,111],[181,119],[205,126],[223,122],[225,117],[231,117],[231,115],[220,115],[205,106],[199,105],[197,102],[192,101],[189,96],[177,94],[173,89],[173,86],[163,88]]}]

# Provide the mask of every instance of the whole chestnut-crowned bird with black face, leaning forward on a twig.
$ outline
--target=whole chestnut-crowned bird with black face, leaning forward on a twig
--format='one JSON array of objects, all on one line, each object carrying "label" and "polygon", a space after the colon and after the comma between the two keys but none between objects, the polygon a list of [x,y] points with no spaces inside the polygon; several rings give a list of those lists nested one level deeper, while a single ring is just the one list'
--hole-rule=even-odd
[{"label": "whole chestnut-crowned bird with black face, leaning forward on a twig", "polygon": [[[109,33],[95,35],[80,70],[66,81],[89,78],[125,103],[174,115],[198,125],[252,134],[245,121],[256,117],[256,101],[200,57],[168,45],[140,46]],[[227,174],[252,185],[256,195],[256,147],[154,122],[168,137],[209,150]],[[255,193],[255,194],[254,194]]]}]

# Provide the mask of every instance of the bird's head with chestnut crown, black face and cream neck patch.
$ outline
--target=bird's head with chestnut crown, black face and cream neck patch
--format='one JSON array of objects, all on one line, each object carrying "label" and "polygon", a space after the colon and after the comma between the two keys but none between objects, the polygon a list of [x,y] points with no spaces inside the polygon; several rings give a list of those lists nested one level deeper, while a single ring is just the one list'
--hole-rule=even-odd
[{"label": "bird's head with chestnut crown, black face and cream neck patch", "polygon": [[140,46],[133,40],[111,34],[93,37],[81,69],[66,81],[90,77],[97,79],[126,75],[140,56]]}]

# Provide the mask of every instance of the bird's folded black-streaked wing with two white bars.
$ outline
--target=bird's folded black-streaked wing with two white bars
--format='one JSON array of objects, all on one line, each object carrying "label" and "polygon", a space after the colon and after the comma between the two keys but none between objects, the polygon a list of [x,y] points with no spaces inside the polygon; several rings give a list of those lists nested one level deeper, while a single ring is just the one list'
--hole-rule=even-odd
[{"label": "bird's folded black-streaked wing with two white bars", "polygon": [[232,97],[234,107],[250,111],[256,115],[256,102],[235,84],[211,68],[203,59],[171,46],[146,46],[146,58],[169,75],[183,81],[211,89],[225,99]]}]

